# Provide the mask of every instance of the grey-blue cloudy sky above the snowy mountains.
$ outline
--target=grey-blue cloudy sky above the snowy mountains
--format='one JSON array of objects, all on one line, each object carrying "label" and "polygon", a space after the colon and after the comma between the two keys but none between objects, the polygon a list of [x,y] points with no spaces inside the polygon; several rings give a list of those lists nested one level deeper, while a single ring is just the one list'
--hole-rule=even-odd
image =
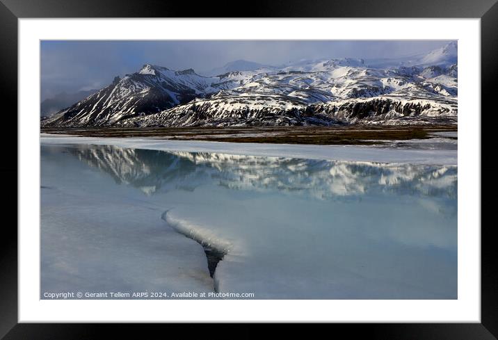
[{"label": "grey-blue cloudy sky above the snowy mountains", "polygon": [[145,63],[198,74],[234,60],[281,65],[302,59],[396,58],[424,53],[442,40],[42,40],[41,100],[102,88]]}]

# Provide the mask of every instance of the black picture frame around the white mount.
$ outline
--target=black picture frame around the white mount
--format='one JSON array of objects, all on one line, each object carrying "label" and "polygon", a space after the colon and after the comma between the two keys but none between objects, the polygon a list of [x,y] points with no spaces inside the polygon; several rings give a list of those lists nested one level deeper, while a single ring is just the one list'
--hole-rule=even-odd
[{"label": "black picture frame around the white mount", "polygon": [[[236,10],[234,1],[191,3],[171,0],[0,0],[0,86],[4,131],[3,145],[17,140],[17,20],[19,18],[58,17],[421,17],[481,19],[481,111],[494,114],[494,83],[498,79],[498,2],[497,0],[273,0],[250,1]],[[243,8],[243,10],[242,10]],[[471,114],[471,113],[466,113]],[[479,117],[479,113],[472,113]],[[490,126],[488,117],[487,126]],[[481,126],[483,126],[481,124]],[[481,136],[485,136],[481,132]],[[481,140],[482,150],[489,149]],[[0,171],[10,193],[17,185],[17,147],[4,150]],[[481,163],[481,177],[490,168]],[[10,187],[11,186],[11,187]],[[490,189],[488,189],[490,190]],[[17,211],[13,196],[3,203],[3,216]],[[481,200],[481,211],[488,201]],[[4,222],[0,237],[0,338],[3,339],[96,339],[111,331],[114,337],[145,334],[149,325],[105,324],[28,324],[17,323],[17,215],[14,222]],[[480,225],[469,227],[481,227]],[[493,224],[481,228],[481,323],[448,324],[331,324],[332,332],[346,331],[348,337],[364,335],[373,339],[497,339],[498,338],[498,270],[497,251],[492,237]],[[316,326],[320,330],[325,325]],[[152,325],[158,331],[176,330],[180,325]],[[212,325],[189,326],[191,336],[206,336]],[[225,326],[226,327],[226,326]],[[243,325],[238,334],[249,337],[259,333],[258,326]],[[286,329],[295,333],[294,325]],[[328,329],[330,332],[330,329]],[[228,327],[226,332],[230,332]],[[209,335],[208,335],[209,336]],[[211,333],[211,336],[216,336]]]}]

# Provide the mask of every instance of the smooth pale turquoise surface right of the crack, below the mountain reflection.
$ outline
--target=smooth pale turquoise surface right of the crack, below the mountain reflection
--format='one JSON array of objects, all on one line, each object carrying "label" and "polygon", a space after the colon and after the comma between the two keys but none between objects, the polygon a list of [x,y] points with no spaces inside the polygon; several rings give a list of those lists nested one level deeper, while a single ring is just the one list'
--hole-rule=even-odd
[{"label": "smooth pale turquoise surface right of the crack, below the mountain reflection", "polygon": [[209,230],[211,240],[218,235],[231,244],[216,268],[218,291],[256,298],[456,298],[456,221],[454,211],[434,211],[437,200],[369,197],[346,204],[213,187],[174,194],[185,202],[168,211],[169,222]]}]

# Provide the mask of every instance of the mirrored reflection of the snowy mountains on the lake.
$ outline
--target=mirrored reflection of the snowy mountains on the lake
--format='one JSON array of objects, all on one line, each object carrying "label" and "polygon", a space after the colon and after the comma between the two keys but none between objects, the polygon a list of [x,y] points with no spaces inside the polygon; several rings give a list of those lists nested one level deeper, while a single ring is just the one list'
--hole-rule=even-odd
[{"label": "mirrored reflection of the snowy mountains on the lake", "polygon": [[[236,190],[278,190],[321,200],[393,192],[456,201],[457,168],[440,165],[325,161],[209,152],[163,152],[110,145],[67,152],[147,195],[204,184]],[[456,202],[455,202],[456,203]]]}]

